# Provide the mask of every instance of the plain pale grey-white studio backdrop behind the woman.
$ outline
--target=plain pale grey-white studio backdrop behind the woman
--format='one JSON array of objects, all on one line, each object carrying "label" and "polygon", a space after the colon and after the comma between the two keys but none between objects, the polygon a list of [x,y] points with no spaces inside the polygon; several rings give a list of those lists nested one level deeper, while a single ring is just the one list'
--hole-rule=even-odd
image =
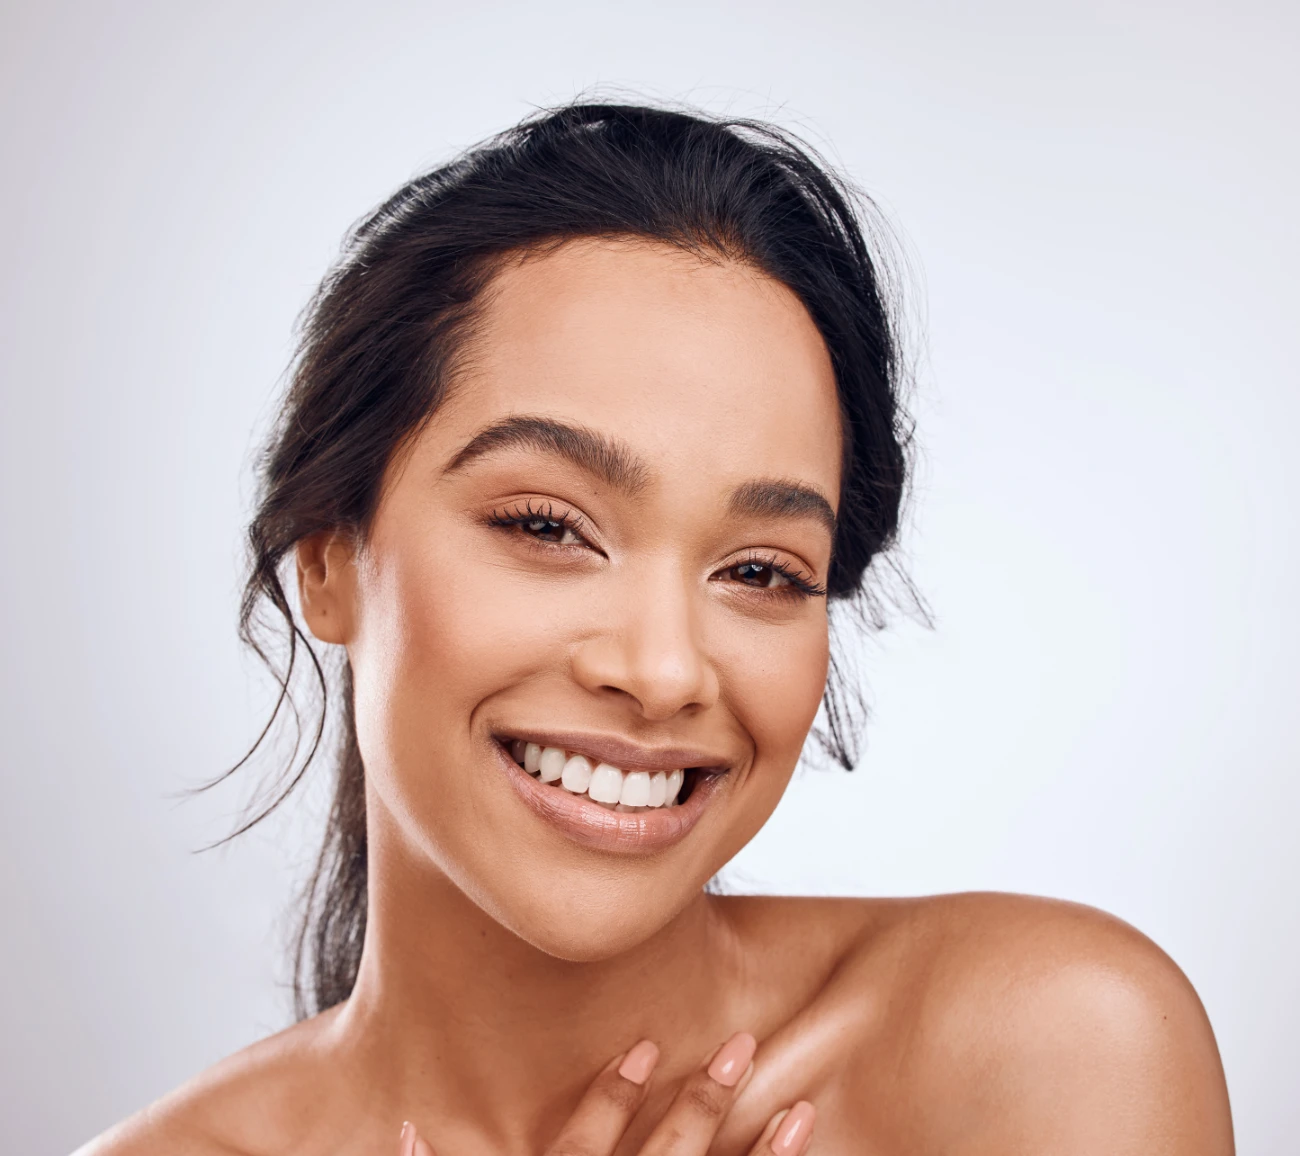
[{"label": "plain pale grey-white studio backdrop behind the woman", "polygon": [[1097,904],[1186,969],[1240,1148],[1294,1152],[1300,646],[1290,3],[4,8],[0,1147],[56,1153],[286,1022],[309,815],[224,852],[254,432],[346,226],[621,85],[823,143],[905,237],[937,614],[780,891]]}]

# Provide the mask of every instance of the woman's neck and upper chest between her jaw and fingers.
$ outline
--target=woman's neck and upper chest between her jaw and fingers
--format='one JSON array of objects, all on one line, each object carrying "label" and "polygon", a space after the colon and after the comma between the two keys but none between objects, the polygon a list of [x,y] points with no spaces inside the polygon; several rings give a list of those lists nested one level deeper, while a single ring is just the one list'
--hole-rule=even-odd
[{"label": "woman's neck and upper chest between her jaw and fingers", "polygon": [[620,956],[558,960],[374,827],[365,948],[338,1022],[363,1086],[391,1101],[368,1110],[536,1151],[637,1040],[660,1044],[671,1077],[745,1026],[738,940],[712,897]]}]

